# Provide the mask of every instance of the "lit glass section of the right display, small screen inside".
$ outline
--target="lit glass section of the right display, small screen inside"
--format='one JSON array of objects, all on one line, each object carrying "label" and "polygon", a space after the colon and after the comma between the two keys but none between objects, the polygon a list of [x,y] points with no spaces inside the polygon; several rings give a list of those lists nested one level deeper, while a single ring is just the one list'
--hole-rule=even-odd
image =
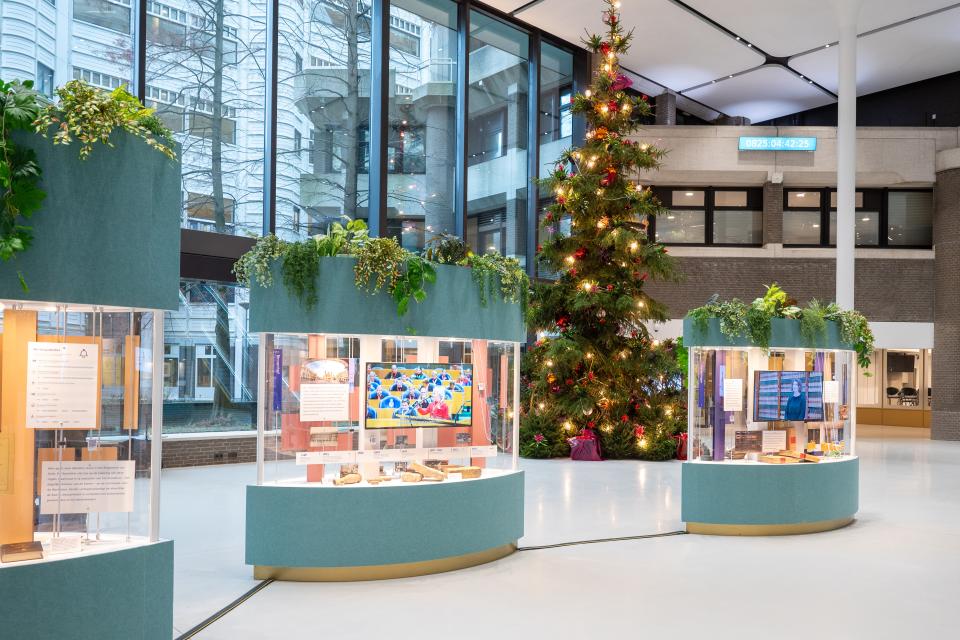
[{"label": "lit glass section of the right display, small screen inside", "polygon": [[852,457],[852,351],[690,350],[690,461],[820,463]]}]

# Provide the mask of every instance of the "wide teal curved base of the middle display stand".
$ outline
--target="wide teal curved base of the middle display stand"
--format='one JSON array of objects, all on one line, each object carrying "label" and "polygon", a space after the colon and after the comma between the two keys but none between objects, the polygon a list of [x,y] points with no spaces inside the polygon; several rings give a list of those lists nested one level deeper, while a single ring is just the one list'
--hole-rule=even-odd
[{"label": "wide teal curved base of the middle display stand", "polygon": [[423,562],[516,543],[522,536],[522,471],[397,486],[247,487],[250,565]]}]

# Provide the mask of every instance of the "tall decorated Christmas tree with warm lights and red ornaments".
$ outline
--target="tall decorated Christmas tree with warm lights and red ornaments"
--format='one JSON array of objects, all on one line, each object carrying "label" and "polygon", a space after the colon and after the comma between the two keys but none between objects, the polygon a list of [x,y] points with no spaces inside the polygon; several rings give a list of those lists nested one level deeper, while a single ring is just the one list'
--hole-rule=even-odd
[{"label": "tall decorated Christmas tree with warm lights and red ornaments", "polygon": [[538,260],[557,279],[537,285],[531,301],[530,326],[545,337],[523,364],[521,453],[568,455],[569,438],[595,434],[604,457],[665,460],[676,457],[686,428],[680,347],[651,338],[645,323],[668,316],[643,288],[677,273],[647,234],[661,207],[636,182],[663,151],[628,139],[651,107],[625,91],[619,57],[632,31],[620,25],[620,2],[605,1],[605,36],[584,41],[599,54],[594,81],[573,98],[586,142],[541,181],[554,203]]}]

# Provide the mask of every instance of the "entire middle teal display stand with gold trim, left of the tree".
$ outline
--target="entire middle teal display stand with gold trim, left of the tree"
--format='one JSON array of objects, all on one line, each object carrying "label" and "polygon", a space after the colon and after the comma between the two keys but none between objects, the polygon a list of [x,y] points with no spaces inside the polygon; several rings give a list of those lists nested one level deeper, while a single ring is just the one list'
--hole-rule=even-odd
[{"label": "entire middle teal display stand with gold trim, left of the tree", "polygon": [[482,303],[470,269],[439,265],[400,317],[389,294],[357,289],[354,265],[321,258],[311,308],[276,268],[251,288],[261,415],[247,564],[258,579],[375,580],[513,553],[520,305]]}]

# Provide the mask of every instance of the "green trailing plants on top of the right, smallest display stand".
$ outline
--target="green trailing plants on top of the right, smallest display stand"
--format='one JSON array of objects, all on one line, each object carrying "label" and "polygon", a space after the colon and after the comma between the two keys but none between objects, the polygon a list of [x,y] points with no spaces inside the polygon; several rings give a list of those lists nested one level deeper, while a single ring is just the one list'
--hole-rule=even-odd
[{"label": "green trailing plants on top of the right, smallest display stand", "polygon": [[721,301],[714,294],[702,307],[691,309],[687,317],[694,328],[705,333],[710,320],[720,320],[720,332],[728,340],[746,337],[752,344],[768,349],[774,318],[798,319],[800,336],[808,347],[822,345],[827,338],[827,321],[836,322],[840,338],[853,346],[857,363],[862,368],[870,366],[873,355],[873,332],[867,319],[857,311],[844,310],[835,303],[823,304],[811,300],[800,308],[776,283],[767,287],[766,294],[756,298],[749,306],[736,298]]}]

